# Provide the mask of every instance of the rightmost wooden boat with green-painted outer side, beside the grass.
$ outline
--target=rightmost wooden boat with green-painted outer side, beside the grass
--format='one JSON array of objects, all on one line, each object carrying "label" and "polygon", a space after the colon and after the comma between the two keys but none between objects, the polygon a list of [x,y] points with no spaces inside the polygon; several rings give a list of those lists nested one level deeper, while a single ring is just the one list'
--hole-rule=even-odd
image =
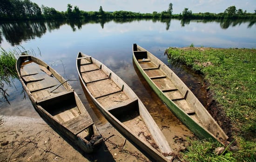
[{"label": "rightmost wooden boat with green-painted outer side, beside the grass", "polygon": [[197,137],[226,142],[222,128],[167,65],[137,44],[133,44],[133,60],[150,87]]}]

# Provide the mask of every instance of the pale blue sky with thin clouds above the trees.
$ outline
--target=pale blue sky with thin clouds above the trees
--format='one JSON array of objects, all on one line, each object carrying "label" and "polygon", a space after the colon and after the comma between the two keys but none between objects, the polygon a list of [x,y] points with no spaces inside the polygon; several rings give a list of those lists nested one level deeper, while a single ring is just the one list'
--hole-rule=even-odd
[{"label": "pale blue sky with thin clouds above the trees", "polygon": [[168,10],[168,5],[173,4],[173,13],[181,13],[184,8],[189,8],[192,13],[224,12],[229,6],[236,6],[254,13],[256,0],[30,0],[38,6],[53,7],[57,11],[67,11],[67,4],[78,6],[83,11],[132,11],[141,13],[162,12]]}]

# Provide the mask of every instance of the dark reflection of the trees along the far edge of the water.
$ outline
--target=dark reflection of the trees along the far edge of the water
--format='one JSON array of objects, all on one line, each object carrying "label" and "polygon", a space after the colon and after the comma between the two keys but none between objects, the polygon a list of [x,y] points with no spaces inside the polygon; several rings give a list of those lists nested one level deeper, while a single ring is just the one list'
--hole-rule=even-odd
[{"label": "dark reflection of the trees along the far edge of the water", "polygon": [[[177,21],[177,19],[143,19],[143,21],[161,22],[166,25],[166,31],[171,27],[171,21]],[[69,25],[72,31],[82,29],[82,25],[86,24],[100,24],[101,28],[104,28],[104,24],[113,21],[115,23],[128,23],[135,21],[142,21],[141,19],[73,19],[73,20],[54,20],[54,21],[27,21],[27,22],[6,22],[0,24],[0,43],[3,41],[3,37],[12,45],[19,45],[22,41],[35,39],[36,37],[42,37],[47,31],[51,32],[55,29],[60,29],[62,25]],[[209,23],[216,22],[220,24],[222,29],[228,29],[230,26],[241,25],[242,23],[248,23],[247,28],[251,28],[255,25],[255,20],[243,20],[243,19],[221,19],[221,20],[189,20],[181,19],[180,24],[182,27],[189,25],[190,22],[197,23]]]}]

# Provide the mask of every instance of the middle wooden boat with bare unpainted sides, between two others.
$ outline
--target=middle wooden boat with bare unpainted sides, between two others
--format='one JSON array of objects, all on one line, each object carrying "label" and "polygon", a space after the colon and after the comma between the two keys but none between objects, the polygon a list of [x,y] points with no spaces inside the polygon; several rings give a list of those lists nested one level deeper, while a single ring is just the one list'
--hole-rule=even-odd
[{"label": "middle wooden boat with bare unpainted sides, between two others", "polygon": [[78,53],[76,66],[85,93],[89,94],[109,123],[156,161],[173,158],[170,156],[173,150],[152,116],[121,78],[98,60],[81,52]]}]

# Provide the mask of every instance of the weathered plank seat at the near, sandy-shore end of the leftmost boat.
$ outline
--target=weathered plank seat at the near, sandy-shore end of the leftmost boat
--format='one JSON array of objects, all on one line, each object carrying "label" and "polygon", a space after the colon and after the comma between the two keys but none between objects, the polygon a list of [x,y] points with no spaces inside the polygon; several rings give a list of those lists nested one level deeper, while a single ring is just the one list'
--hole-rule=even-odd
[{"label": "weathered plank seat at the near, sandy-shore end of the leftmost boat", "polygon": [[75,135],[77,135],[78,133],[84,131],[93,124],[94,122],[87,112],[64,122],[63,126],[65,126],[69,131],[73,132]]}]

